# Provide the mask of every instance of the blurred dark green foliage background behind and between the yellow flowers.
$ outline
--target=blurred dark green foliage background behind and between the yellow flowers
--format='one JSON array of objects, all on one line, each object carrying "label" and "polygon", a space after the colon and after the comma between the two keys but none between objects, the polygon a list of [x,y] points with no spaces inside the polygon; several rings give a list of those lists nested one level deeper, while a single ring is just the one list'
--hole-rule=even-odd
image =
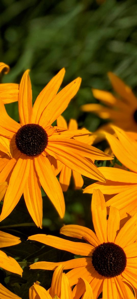
[{"label": "blurred dark green foliage background behind and between the yellow flowers", "polygon": [[[82,77],[82,84],[63,115],[67,120],[77,119],[80,127],[85,126],[90,131],[95,131],[101,120],[91,113],[81,112],[79,107],[84,103],[97,102],[93,99],[91,87],[111,90],[108,71],[113,71],[125,80],[136,93],[136,0],[1,0],[0,4],[0,57],[2,62],[11,67],[2,82],[19,83],[23,71],[30,68],[34,101],[48,81],[65,67],[62,87],[78,76]],[[18,121],[18,103],[6,105],[6,109]],[[87,181],[87,184],[90,183],[91,180]],[[7,254],[18,257],[19,261],[26,260],[26,252],[27,262],[30,263],[36,261],[37,257],[39,260],[52,261],[70,258],[65,252],[62,254],[36,242],[33,245],[26,242],[31,234],[59,235],[59,228],[63,224],[44,192],[42,195],[43,230],[33,226],[23,198],[1,223],[1,229],[24,240],[17,247],[5,249]],[[89,209],[91,196],[83,195],[82,191],[74,192],[71,185],[64,197],[65,224],[75,223],[92,228]],[[25,223],[32,223],[32,227],[26,227]],[[5,228],[7,225],[10,226]],[[11,225],[15,225],[15,228]],[[49,272],[33,271],[35,276],[31,276],[28,267],[25,269],[22,280],[0,270],[2,283],[24,299],[28,298],[28,287],[36,279],[44,287],[50,285]],[[45,280],[46,283],[42,284]]]}]

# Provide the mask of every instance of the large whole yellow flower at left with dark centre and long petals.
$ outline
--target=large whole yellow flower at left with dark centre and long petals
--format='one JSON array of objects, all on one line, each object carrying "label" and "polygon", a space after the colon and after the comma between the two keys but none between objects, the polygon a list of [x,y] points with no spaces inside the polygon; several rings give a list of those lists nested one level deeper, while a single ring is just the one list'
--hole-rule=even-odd
[{"label": "large whole yellow flower at left with dark centre and long petals", "polygon": [[23,193],[32,219],[41,228],[41,186],[60,217],[64,216],[64,197],[48,159],[50,155],[78,173],[91,179],[105,181],[97,167],[85,157],[108,160],[112,159],[112,156],[72,139],[75,131],[51,126],[66,109],[81,83],[81,79],[77,78],[56,94],[63,77],[64,69],[41,91],[32,108],[29,71],[24,73],[18,94],[20,123],[7,115],[0,100],[0,135],[9,139],[13,150],[12,159],[1,152],[0,182],[7,181],[9,186],[0,221],[12,212]]}]

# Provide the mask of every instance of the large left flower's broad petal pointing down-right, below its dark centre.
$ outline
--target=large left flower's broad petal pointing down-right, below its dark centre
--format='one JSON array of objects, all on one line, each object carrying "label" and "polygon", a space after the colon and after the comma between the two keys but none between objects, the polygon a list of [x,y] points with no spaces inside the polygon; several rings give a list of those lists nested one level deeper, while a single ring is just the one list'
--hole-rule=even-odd
[{"label": "large left flower's broad petal pointing down-right, below its dark centre", "polygon": [[65,204],[61,186],[53,173],[48,158],[40,155],[35,158],[35,167],[40,183],[45,193],[50,198],[61,218],[64,217]]}]

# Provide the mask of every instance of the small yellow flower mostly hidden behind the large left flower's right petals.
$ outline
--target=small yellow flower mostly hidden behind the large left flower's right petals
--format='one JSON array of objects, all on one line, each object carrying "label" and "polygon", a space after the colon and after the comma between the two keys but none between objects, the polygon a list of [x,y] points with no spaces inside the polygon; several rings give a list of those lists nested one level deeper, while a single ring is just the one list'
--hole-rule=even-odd
[{"label": "small yellow flower mostly hidden behind the large left flower's right petals", "polygon": [[[57,125],[68,130],[78,130],[78,123],[75,119],[70,119],[69,124],[67,126],[67,122],[62,115],[60,115],[59,118],[57,118]],[[85,129],[79,129],[78,131],[85,132]],[[88,130],[87,134],[74,136],[73,138],[89,145],[92,144],[94,141],[94,136]],[[73,175],[75,190],[80,189],[83,186],[84,181],[80,173],[70,169],[62,162],[55,160],[55,158],[53,157],[50,157],[50,162],[55,175],[57,176],[60,173],[59,182],[62,187],[62,191],[67,191],[70,184],[71,175]]]}]

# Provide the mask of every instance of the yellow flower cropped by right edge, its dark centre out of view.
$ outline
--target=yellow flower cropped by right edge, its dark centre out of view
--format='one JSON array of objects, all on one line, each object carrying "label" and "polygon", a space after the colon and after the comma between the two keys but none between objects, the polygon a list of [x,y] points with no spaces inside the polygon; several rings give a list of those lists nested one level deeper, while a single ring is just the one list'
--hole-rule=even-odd
[{"label": "yellow flower cropped by right edge, its dark centre out of view", "polygon": [[106,201],[106,206],[112,205],[119,209],[122,225],[137,212],[137,142],[122,129],[116,126],[111,128],[116,136],[104,132],[104,137],[125,169],[99,167],[100,172],[107,179],[106,183],[98,181],[87,186],[83,192],[93,193],[94,189],[100,189],[105,196],[110,196],[111,199]]}]

